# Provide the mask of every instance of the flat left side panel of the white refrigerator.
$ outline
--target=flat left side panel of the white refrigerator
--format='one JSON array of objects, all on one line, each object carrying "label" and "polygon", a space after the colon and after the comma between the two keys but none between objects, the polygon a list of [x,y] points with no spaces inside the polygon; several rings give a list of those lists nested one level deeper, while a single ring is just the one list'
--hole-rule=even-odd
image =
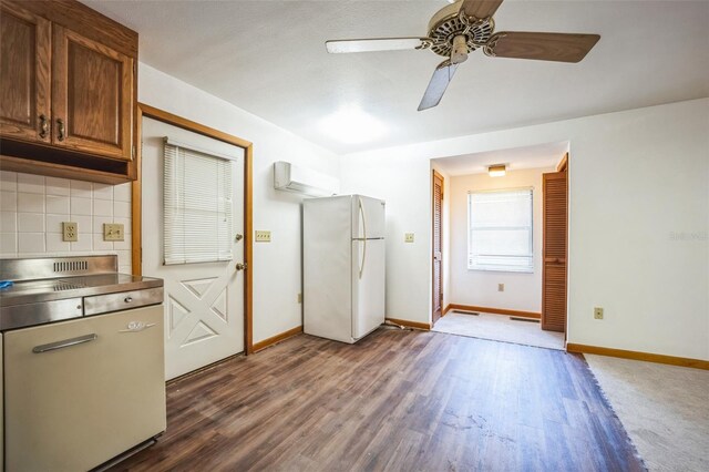
[{"label": "flat left side panel of the white refrigerator", "polygon": [[302,203],[304,331],[353,342],[351,197]]}]

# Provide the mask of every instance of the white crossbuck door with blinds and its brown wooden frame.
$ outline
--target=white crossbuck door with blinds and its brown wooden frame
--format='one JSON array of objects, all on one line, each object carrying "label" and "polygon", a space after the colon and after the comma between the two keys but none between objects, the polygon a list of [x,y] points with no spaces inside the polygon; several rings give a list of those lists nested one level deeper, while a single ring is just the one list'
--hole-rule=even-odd
[{"label": "white crossbuck door with blinds and its brown wooden frame", "polygon": [[[145,109],[145,105],[142,106]],[[250,348],[250,144],[244,142],[248,146],[238,145],[242,144],[238,138],[234,138],[235,142],[227,141],[229,136],[216,130],[150,110],[150,114],[141,117],[140,182],[150,182],[150,185],[138,185],[137,188],[137,201],[141,202],[141,215],[134,215],[134,220],[140,218],[141,222],[137,267],[145,276],[164,279],[165,369],[166,378],[173,379],[230,356],[248,352]],[[169,229],[165,225],[164,202],[167,201],[165,188],[168,181],[165,174],[165,156],[168,152],[165,137],[185,150],[185,161],[181,163],[185,166],[182,179],[186,182],[188,176],[189,181],[195,181],[195,174],[199,174],[198,178],[202,179],[209,178],[209,172],[213,172],[214,181],[222,181],[214,185],[195,181],[192,188],[185,184],[186,193],[181,197],[187,201],[199,194],[199,198],[209,198],[218,193],[216,197],[220,203],[203,205],[203,209],[219,206],[215,222],[218,220],[219,228],[225,229],[224,235],[219,236],[218,257],[194,257],[195,253],[204,249],[206,243],[203,240],[205,237],[195,233],[193,225],[203,224],[205,217],[195,217],[191,225],[185,223],[177,229]],[[189,156],[195,160],[193,166],[198,172],[186,171]],[[218,163],[218,167],[209,164],[212,162]],[[225,179],[226,175],[230,177]],[[214,191],[216,186],[219,192]],[[187,222],[186,206],[179,212]],[[228,223],[223,223],[227,220],[227,214]],[[171,237],[165,238],[165,233]],[[167,242],[175,237],[185,242],[184,254],[187,259],[184,263],[168,260]]]}]

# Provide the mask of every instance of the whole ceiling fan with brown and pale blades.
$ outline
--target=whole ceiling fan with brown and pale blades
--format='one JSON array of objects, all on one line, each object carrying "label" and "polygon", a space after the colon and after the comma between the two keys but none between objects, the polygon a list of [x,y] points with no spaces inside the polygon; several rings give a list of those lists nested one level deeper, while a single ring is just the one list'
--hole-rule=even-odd
[{"label": "whole ceiling fan with brown and pale blades", "polygon": [[419,111],[441,102],[458,64],[482,48],[491,58],[578,62],[600,39],[598,34],[501,31],[494,33],[493,14],[503,0],[458,0],[429,21],[429,35],[327,41],[330,53],[430,49],[448,58],[433,72]]}]

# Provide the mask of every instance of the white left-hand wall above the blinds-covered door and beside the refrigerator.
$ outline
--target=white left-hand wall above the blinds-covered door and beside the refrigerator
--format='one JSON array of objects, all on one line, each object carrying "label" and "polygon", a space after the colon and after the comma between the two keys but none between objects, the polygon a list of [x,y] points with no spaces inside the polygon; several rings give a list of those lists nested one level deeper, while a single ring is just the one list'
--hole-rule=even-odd
[{"label": "white left-hand wall above the blinds-covered door and beside the refrigerator", "polygon": [[[141,63],[138,99],[197,123],[254,143],[254,228],[271,232],[271,243],[254,244],[254,342],[301,325],[300,203],[274,189],[273,163],[289,161],[339,176],[335,154]],[[144,183],[150,185],[150,183]]]}]

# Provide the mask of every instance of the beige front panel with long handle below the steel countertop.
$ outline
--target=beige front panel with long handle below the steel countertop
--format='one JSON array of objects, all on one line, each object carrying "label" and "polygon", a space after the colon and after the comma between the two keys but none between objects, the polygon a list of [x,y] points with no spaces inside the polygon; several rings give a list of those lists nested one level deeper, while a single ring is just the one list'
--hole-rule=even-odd
[{"label": "beige front panel with long handle below the steel countertop", "polygon": [[163,306],[4,335],[7,471],[85,471],[165,430]]}]

